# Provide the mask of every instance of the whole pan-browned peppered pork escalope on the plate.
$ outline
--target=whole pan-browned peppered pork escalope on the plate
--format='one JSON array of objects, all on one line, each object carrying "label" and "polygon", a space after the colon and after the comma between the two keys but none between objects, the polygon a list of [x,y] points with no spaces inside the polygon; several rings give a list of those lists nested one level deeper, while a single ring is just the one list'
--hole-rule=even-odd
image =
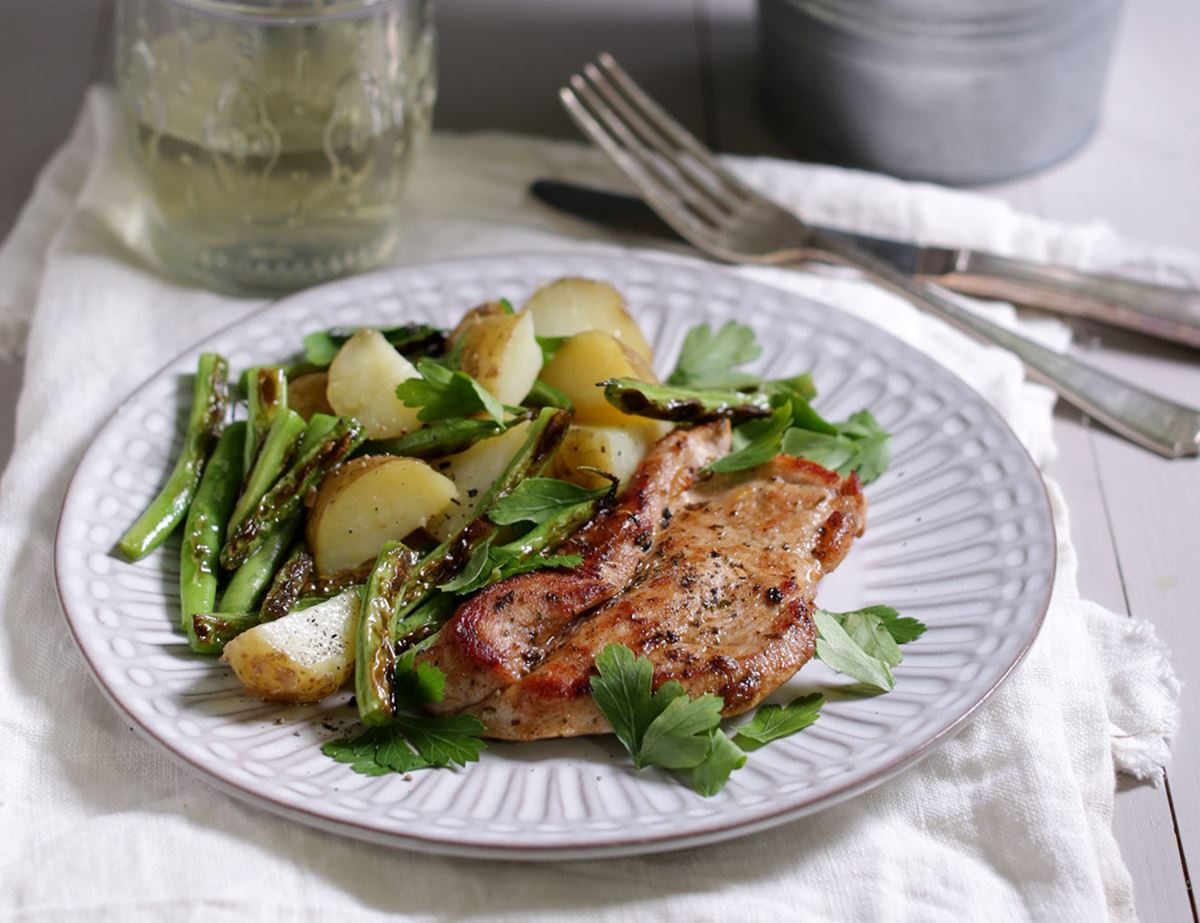
[{"label": "whole pan-browned peppered pork escalope on the plate", "polygon": [[572,540],[581,568],[503,581],[460,607],[427,655],[446,673],[443,711],[504,739],[607,732],[590,677],[611,642],[648,658],[655,687],[722,696],[726,715],[808,663],[817,582],[865,525],[858,478],[780,456],[697,479],[727,444],[725,424],[665,437]]}]

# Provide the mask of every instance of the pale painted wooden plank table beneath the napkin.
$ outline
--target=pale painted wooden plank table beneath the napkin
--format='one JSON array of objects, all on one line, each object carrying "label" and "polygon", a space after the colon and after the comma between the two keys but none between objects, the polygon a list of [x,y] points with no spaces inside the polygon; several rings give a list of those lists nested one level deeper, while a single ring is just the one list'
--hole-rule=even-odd
[{"label": "pale painted wooden plank table beneath the napkin", "polygon": [[[1063,221],[1102,218],[1129,236],[1200,251],[1200,4],[1127,5],[1104,120],[1067,163],[989,192]],[[112,0],[7,0],[0,28],[0,236],[38,166],[109,71]],[[714,148],[787,156],[758,114],[754,0],[455,0],[438,11],[442,128],[576,137],[554,89],[610,50]],[[17,92],[14,88],[24,88]],[[19,131],[13,126],[19,126]],[[1200,352],[1079,325],[1099,366],[1200,404]],[[12,443],[19,364],[0,362],[0,466]],[[1184,725],[1168,781],[1122,784],[1116,832],[1151,923],[1196,917],[1200,875],[1200,462],[1163,461],[1060,409],[1063,486],[1084,595],[1154,622],[1184,681]]]}]

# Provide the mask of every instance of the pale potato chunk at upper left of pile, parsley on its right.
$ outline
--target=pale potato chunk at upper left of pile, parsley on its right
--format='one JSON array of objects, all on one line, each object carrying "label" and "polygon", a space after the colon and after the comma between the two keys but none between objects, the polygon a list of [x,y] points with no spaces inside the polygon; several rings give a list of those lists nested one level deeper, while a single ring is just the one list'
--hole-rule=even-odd
[{"label": "pale potato chunk at upper left of pile, parsley on its right", "polygon": [[413,364],[383,334],[359,330],[330,362],[325,395],[335,413],[356,419],[368,438],[389,439],[421,425],[420,408],[404,407],[396,397],[396,385],[416,377]]}]

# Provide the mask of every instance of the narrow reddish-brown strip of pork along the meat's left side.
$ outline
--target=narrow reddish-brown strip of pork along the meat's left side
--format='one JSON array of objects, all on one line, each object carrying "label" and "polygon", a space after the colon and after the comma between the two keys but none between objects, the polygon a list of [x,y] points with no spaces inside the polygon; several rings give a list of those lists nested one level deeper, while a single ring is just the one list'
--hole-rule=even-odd
[{"label": "narrow reddish-brown strip of pork along the meat's left side", "polygon": [[598,514],[562,549],[581,555],[580,567],[511,577],[460,606],[419,658],[446,676],[443,700],[430,709],[458,712],[517,683],[554,649],[578,616],[635,582],[638,567],[672,526],[673,505],[700,469],[728,448],[725,421],[665,436],[642,460],[620,502]]}]

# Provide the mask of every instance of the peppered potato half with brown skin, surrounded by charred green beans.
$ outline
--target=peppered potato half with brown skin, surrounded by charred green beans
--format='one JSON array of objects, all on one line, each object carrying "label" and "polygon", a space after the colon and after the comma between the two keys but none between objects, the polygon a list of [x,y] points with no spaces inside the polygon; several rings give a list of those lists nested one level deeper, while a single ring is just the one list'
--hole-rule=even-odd
[{"label": "peppered potato half with brown skin, surrounded by charred green beans", "polygon": [[419,458],[374,455],[335,469],[308,511],[307,539],[317,573],[328,576],[373,559],[442,513],[458,491]]}]

